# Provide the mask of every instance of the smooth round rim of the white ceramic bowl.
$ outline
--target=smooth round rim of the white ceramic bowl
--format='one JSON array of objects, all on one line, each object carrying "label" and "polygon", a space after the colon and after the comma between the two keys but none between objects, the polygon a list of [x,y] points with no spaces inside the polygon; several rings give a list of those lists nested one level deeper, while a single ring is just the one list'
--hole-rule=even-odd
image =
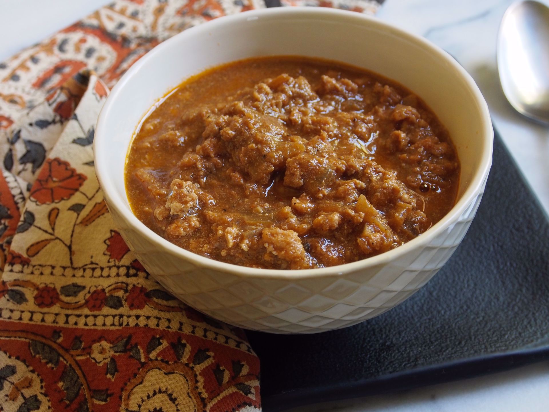
[{"label": "smooth round rim of the white ceramic bowl", "polygon": [[[159,53],[169,47],[172,43],[182,42],[186,38],[193,36],[200,36],[201,34],[207,34],[208,31],[216,30],[219,27],[226,25],[238,24],[238,22],[256,18],[275,18],[280,19],[284,16],[291,15],[291,17],[302,16],[303,18],[337,18],[338,20],[346,21],[346,23],[354,24],[368,24],[376,27],[379,30],[388,32],[388,34],[395,35],[397,37],[403,37],[405,40],[416,43],[418,46],[427,49],[428,52],[438,55],[449,64],[450,68],[455,70],[458,75],[466,82],[469,92],[472,93],[475,101],[478,104],[478,108],[481,114],[481,130],[479,135],[483,138],[483,153],[481,155],[481,162],[477,168],[474,169],[472,179],[469,183],[469,187],[463,192],[461,198],[456,202],[452,209],[436,224],[430,227],[422,235],[412,239],[411,241],[402,244],[395,249],[388,250],[387,252],[380,253],[379,255],[357,260],[351,263],[345,263],[337,266],[328,266],[327,268],[312,268],[312,269],[257,269],[250,268],[248,266],[240,266],[231,263],[225,263],[219,260],[203,257],[199,254],[193,253],[189,250],[183,249],[176,244],[164,239],[153,230],[149,229],[143,222],[141,222],[132,213],[131,209],[124,204],[124,200],[117,195],[117,191],[114,187],[113,181],[109,178],[107,171],[107,162],[103,162],[100,153],[102,153],[107,147],[107,139],[105,136],[108,132],[103,132],[107,129],[105,118],[107,112],[116,104],[116,97],[120,94],[127,81],[135,74],[143,65],[147,64],[150,60],[154,59]],[[490,119],[490,113],[488,110],[488,104],[486,104],[484,97],[482,96],[478,86],[467,73],[467,71],[451,57],[450,54],[444,50],[435,46],[435,44],[429,42],[423,37],[414,35],[405,30],[401,30],[394,25],[386,23],[379,18],[374,18],[361,13],[350,12],[347,10],[330,9],[323,7],[277,7],[270,9],[254,9],[246,12],[236,13],[233,15],[223,16],[209,21],[205,24],[191,27],[187,30],[180,32],[179,34],[169,38],[168,40],[160,43],[154,47],[151,51],[146,53],[141,59],[138,60],[131,68],[121,77],[116,85],[111,90],[107,101],[105,101],[103,108],[101,109],[97,124],[96,132],[93,142],[94,152],[94,166],[96,170],[97,179],[99,185],[103,190],[104,197],[107,199],[107,203],[110,208],[113,208],[117,213],[135,229],[140,236],[148,238],[150,242],[155,244],[159,250],[165,250],[172,255],[177,256],[183,260],[190,261],[197,268],[209,269],[214,271],[227,272],[239,277],[267,277],[268,279],[309,279],[312,277],[325,277],[334,275],[343,275],[349,272],[355,272],[358,270],[365,270],[372,266],[379,266],[388,263],[389,261],[396,260],[402,255],[407,254],[415,248],[421,248],[427,246],[440,232],[444,231],[450,225],[454,224],[463,212],[469,207],[471,201],[477,196],[483,189],[484,182],[488,176],[490,166],[492,163],[492,146],[494,142],[494,131],[492,129],[492,123]],[[127,152],[126,152],[127,153]],[[124,176],[122,176],[124,178]]]}]

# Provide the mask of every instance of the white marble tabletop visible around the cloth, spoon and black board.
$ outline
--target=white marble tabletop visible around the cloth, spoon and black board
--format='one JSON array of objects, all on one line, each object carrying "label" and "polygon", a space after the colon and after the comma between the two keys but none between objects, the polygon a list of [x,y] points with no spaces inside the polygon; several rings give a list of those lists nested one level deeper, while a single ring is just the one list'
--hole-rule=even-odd
[{"label": "white marble tabletop visible around the cloth, spoon and black board", "polygon": [[[93,11],[105,0],[2,0],[0,61]],[[497,29],[512,0],[386,0],[379,18],[446,49],[477,81],[496,128],[549,213],[549,128],[514,112],[496,69]],[[549,0],[547,0],[549,3]],[[396,394],[317,404],[300,411],[548,411],[549,362]],[[294,412],[296,412],[294,410]]]}]

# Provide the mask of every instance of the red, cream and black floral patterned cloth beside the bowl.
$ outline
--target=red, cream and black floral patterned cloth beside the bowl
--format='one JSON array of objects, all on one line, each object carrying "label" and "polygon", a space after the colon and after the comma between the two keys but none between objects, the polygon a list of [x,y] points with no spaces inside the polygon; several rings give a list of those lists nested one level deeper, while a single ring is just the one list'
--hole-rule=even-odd
[{"label": "red, cream and black floral patterned cloth beside the bowl", "polygon": [[[253,411],[242,330],[170,296],[110,218],[94,124],[166,38],[254,0],[116,0],[0,64],[0,410]],[[282,0],[373,13],[364,0]]]}]

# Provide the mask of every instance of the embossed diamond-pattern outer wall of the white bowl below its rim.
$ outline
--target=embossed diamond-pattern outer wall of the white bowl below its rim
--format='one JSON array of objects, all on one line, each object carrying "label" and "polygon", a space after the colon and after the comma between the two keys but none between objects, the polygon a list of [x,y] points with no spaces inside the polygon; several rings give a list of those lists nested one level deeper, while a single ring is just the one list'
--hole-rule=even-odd
[{"label": "embossed diamond-pattern outer wall of the white bowl below its rim", "polygon": [[176,297],[213,318],[273,333],[314,333],[351,326],[395,307],[450,258],[469,228],[482,192],[453,225],[423,248],[365,270],[310,279],[239,276],[158,253],[119,214],[113,218],[143,265]]}]

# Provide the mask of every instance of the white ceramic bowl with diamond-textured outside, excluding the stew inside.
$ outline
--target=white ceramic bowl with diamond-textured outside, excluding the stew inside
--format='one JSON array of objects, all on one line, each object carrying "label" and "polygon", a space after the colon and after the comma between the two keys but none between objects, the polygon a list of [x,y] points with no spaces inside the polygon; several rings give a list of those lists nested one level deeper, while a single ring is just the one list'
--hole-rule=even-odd
[{"label": "white ceramic bowl with diamond-textured outside, excluding the stew inside", "polygon": [[[231,265],[175,246],[128,204],[126,153],[136,125],[170,88],[211,66],[263,55],[305,55],[360,66],[421,96],[449,129],[461,160],[458,201],[416,239],[331,268],[267,270]],[[178,34],[139,60],[113,88],[97,123],[97,177],[120,233],[173,295],[232,325],[273,333],[338,329],[393,308],[456,249],[484,191],[492,159],[488,107],[473,79],[432,43],[366,15],[326,8],[253,10]]]}]

